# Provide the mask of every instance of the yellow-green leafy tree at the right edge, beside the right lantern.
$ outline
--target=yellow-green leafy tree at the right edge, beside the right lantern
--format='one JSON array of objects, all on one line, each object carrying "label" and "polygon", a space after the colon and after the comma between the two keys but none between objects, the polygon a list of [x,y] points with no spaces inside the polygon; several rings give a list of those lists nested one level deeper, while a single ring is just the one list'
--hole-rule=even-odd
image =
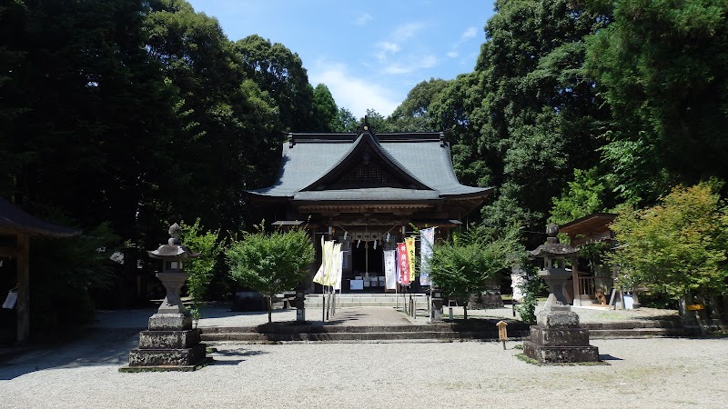
[{"label": "yellow-green leafy tree at the right edge, beside the right lantern", "polygon": [[710,184],[677,186],[662,204],[623,212],[612,223],[622,286],[647,285],[679,300],[728,291],[728,213]]}]

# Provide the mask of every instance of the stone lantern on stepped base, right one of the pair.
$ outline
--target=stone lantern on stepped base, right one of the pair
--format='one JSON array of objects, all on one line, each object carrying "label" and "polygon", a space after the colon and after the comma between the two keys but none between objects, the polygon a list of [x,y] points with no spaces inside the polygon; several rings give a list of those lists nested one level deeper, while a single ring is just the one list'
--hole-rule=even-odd
[{"label": "stone lantern on stepped base, right one of the pair", "polygon": [[589,330],[581,328],[579,314],[571,311],[564,294],[564,284],[571,277],[565,260],[577,250],[559,243],[556,224],[549,224],[546,233],[546,244],[531,251],[531,256],[543,258],[539,275],[549,285],[551,294],[536,316],[536,325],[531,325],[531,338],[523,343],[523,353],[540,364],[598,362],[599,349],[589,344]]}]

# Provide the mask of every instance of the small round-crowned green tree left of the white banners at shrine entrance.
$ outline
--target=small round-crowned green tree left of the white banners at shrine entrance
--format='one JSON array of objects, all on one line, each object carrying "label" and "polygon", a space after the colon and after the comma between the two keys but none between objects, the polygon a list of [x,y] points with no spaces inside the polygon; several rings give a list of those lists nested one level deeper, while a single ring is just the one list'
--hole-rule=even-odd
[{"label": "small round-crowned green tree left of the white banners at shrine entrance", "polygon": [[273,296],[293,289],[308,274],[314,248],[303,229],[246,233],[225,252],[230,275],[245,287],[268,298],[268,323],[272,322]]}]

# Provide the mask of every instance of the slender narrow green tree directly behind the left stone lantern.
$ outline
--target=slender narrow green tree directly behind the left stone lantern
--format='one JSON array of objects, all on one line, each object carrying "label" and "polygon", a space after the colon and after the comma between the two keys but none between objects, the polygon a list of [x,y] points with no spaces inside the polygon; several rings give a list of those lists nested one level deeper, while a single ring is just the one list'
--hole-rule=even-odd
[{"label": "slender narrow green tree directly behind the left stone lantern", "polygon": [[197,257],[187,260],[185,271],[187,278],[187,295],[192,297],[192,316],[196,320],[200,317],[200,307],[205,299],[207,287],[213,277],[217,265],[218,255],[225,250],[225,239],[220,240],[220,231],[207,231],[203,233],[200,219],[194,224],[180,223],[180,239]]}]

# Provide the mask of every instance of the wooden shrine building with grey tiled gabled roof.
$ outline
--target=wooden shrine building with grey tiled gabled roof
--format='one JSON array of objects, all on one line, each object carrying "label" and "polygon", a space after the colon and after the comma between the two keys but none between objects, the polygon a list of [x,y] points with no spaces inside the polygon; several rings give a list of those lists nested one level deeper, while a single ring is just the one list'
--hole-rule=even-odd
[{"label": "wooden shrine building with grey tiled gabled roof", "polygon": [[412,225],[447,236],[491,191],[460,185],[443,133],[379,134],[365,119],[356,134],[288,134],[278,180],[247,194],[274,225],[308,229],[315,264],[321,235],[341,243],[344,291],[351,280],[383,291],[383,250]]}]

